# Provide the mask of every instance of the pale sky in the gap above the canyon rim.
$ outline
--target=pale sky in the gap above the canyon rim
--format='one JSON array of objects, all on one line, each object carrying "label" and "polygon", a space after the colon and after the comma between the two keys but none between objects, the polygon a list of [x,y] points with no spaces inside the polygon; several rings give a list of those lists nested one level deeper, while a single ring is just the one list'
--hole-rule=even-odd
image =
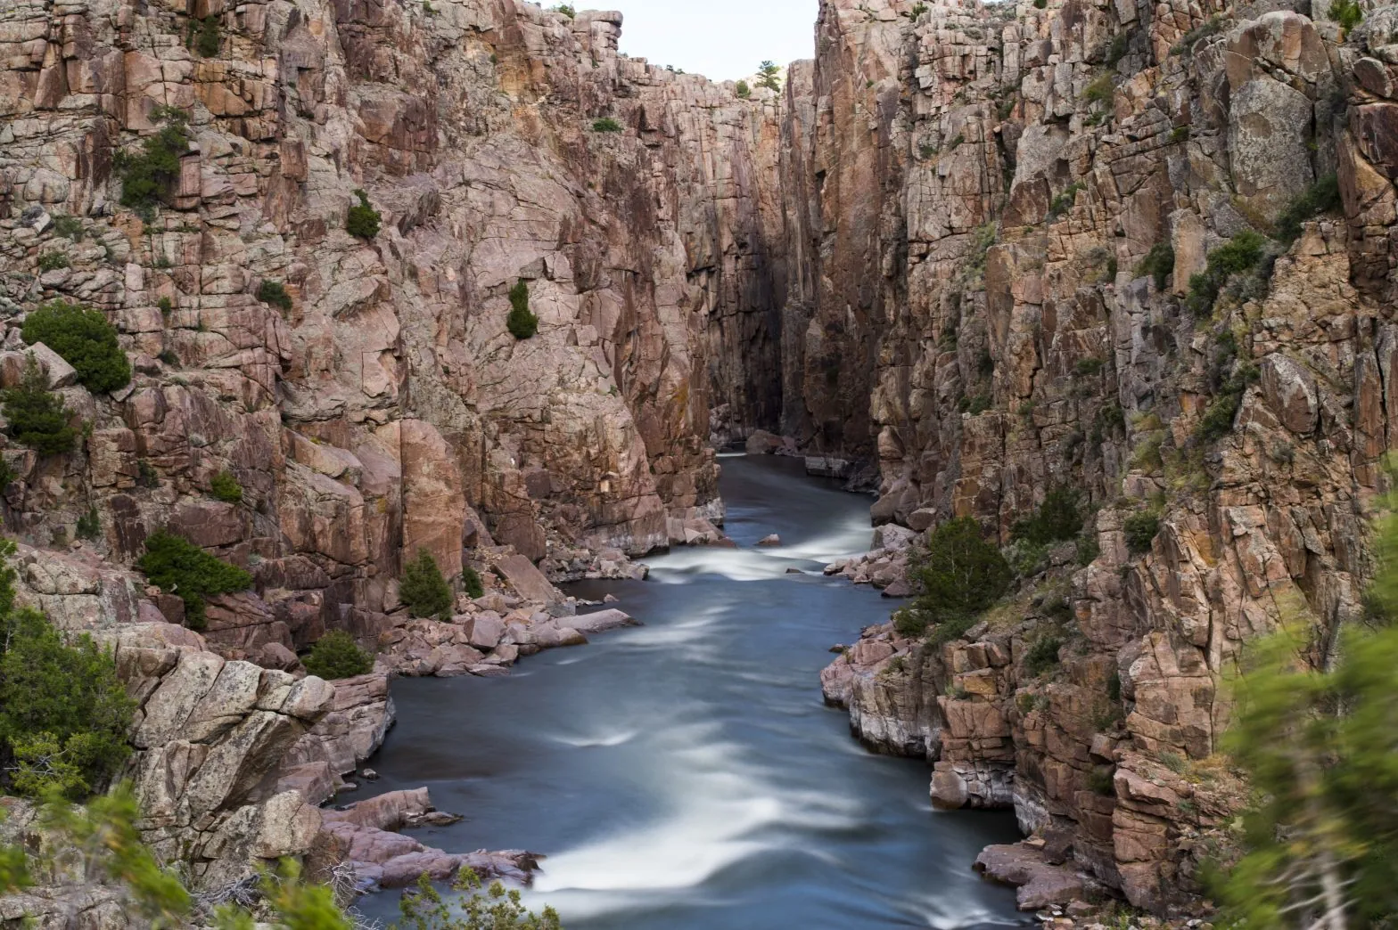
[{"label": "pale sky in the gap above the canyon rim", "polygon": [[747,77],[766,59],[786,67],[815,56],[819,0],[573,0],[573,6],[621,10],[624,53],[714,81]]}]

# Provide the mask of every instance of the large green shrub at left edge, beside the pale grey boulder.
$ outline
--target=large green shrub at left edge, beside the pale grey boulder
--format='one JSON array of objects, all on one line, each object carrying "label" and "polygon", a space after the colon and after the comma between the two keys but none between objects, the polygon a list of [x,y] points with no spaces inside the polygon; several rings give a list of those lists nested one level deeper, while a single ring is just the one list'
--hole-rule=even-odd
[{"label": "large green shrub at left edge, beside the pale grey boulder", "polygon": [[0,782],[77,799],[105,789],[126,760],[136,702],[89,635],[69,645],[42,613],[15,609],[14,552],[0,540]]}]

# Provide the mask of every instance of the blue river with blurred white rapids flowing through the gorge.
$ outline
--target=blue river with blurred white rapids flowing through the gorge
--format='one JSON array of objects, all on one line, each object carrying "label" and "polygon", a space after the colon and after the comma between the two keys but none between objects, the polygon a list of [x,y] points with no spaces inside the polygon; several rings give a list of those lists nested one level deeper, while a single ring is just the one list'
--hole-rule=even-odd
[{"label": "blue river with blurred white rapids flowing through the gorge", "polygon": [[[505,679],[404,679],[372,793],[426,785],[464,820],[452,852],[545,853],[527,899],[568,930],[851,930],[1021,924],[970,870],[1018,836],[1008,813],[934,811],[928,768],[867,753],[821,700],[833,642],[888,617],[821,575],[868,547],[870,499],[800,462],[724,457],[738,549],[586,582],[646,626],[524,659]],[[755,547],[768,533],[783,546]],[[787,574],[788,567],[805,574]],[[361,909],[391,917],[397,891]]]}]

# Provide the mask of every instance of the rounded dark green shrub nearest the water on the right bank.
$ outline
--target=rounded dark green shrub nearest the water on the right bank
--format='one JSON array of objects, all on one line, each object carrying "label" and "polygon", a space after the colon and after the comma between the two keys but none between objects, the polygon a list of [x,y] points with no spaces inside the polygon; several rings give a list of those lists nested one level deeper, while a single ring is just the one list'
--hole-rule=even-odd
[{"label": "rounded dark green shrub nearest the water on the right bank", "polygon": [[927,549],[913,553],[909,577],[921,593],[895,617],[899,633],[920,635],[937,627],[934,635],[944,637],[974,626],[976,616],[1005,593],[1015,573],[981,536],[980,524],[959,517],[934,529]]}]

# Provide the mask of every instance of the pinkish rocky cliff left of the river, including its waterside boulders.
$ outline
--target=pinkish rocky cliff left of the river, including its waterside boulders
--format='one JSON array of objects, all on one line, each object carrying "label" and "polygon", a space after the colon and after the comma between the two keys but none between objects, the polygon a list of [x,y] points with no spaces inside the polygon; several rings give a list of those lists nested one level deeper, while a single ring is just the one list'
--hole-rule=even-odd
[{"label": "pinkish rocky cliff left of the river, including its waterside boulders", "polygon": [[[712,539],[710,430],[779,423],[780,99],[625,59],[619,24],[514,0],[0,8],[0,369],[14,385],[34,350],[82,427],[71,454],[0,450],[6,532],[24,598],[116,649],[141,827],[199,888],[432,853],[315,809],[383,739],[383,672],[582,641],[531,563],[626,575]],[[187,144],[143,207],[123,166],[172,113]],[[375,236],[347,230],[358,191]],[[117,327],[129,387],[24,345],[52,300]],[[130,570],[159,529],[254,577],[203,635]],[[419,549],[487,596],[408,623]],[[303,677],[327,628],[382,647],[380,673]],[[17,906],[60,926],[108,902],[50,896]]]}]

